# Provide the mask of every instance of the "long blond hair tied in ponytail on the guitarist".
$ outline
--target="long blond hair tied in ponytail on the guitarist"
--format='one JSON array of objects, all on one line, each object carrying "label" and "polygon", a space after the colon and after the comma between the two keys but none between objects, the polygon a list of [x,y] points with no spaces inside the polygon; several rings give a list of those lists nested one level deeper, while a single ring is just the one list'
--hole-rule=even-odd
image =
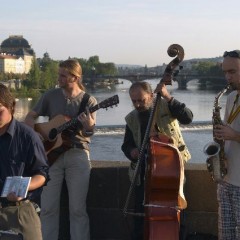
[{"label": "long blond hair tied in ponytail on the guitarist", "polygon": [[59,63],[60,68],[64,68],[67,72],[72,74],[73,76],[79,77],[78,85],[80,89],[85,91],[85,87],[82,84],[82,67],[78,60],[76,59],[68,59]]}]

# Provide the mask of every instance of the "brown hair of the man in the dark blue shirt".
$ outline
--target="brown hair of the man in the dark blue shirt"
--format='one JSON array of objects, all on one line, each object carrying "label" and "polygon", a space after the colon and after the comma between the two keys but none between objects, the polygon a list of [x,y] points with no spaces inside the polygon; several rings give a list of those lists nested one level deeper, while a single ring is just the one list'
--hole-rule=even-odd
[{"label": "brown hair of the man in the dark blue shirt", "polygon": [[0,103],[7,108],[12,115],[14,114],[16,105],[15,98],[12,96],[9,89],[2,83],[0,83]]}]

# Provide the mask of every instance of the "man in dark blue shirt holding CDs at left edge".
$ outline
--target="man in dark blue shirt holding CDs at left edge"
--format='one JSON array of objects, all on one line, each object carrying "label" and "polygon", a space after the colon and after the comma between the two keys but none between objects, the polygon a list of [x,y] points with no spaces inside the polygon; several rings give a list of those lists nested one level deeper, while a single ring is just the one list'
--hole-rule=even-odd
[{"label": "man in dark blue shirt holding CDs at left edge", "polygon": [[31,177],[27,198],[16,192],[0,198],[0,230],[42,240],[36,203],[48,180],[47,157],[36,132],[13,117],[14,109],[14,97],[0,84],[0,193],[6,177]]}]

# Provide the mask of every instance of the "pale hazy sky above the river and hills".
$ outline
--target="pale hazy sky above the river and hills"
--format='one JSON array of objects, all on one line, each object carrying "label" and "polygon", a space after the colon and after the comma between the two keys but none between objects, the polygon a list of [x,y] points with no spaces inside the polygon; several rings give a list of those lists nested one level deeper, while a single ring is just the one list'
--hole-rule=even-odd
[{"label": "pale hazy sky above the river and hills", "polygon": [[240,49],[239,0],[0,0],[0,42],[23,35],[41,58],[147,65]]}]

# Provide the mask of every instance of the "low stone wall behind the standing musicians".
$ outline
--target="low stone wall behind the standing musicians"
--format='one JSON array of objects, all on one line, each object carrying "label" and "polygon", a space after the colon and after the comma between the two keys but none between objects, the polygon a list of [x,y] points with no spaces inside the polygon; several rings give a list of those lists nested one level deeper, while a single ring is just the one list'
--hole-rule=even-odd
[{"label": "low stone wall behind the standing musicians", "polygon": [[[87,199],[92,240],[130,240],[132,217],[123,215],[130,182],[128,162],[93,161]],[[217,235],[216,184],[203,164],[187,164],[183,218],[187,233]],[[132,200],[129,204],[132,209]],[[61,199],[60,240],[69,240],[66,186]]]}]

